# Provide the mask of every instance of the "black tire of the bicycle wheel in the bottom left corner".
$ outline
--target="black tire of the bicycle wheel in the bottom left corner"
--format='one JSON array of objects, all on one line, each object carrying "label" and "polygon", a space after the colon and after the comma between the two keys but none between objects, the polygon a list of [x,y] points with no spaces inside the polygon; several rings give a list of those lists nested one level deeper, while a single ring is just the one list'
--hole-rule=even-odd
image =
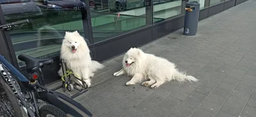
[{"label": "black tire of the bicycle wheel in the bottom left corner", "polygon": [[[1,75],[0,75],[1,76]],[[6,114],[3,116],[15,116],[15,117],[22,117],[22,111],[20,109],[20,104],[19,104],[19,100],[17,100],[16,96],[14,95],[14,93],[12,92],[12,89],[9,87],[8,84],[5,83],[3,76],[0,77],[0,93],[1,93],[1,98],[4,96],[4,99],[8,100],[10,107],[12,110],[8,110],[8,111],[12,111],[13,115],[10,114]],[[0,100],[2,103],[2,99]],[[3,111],[3,109],[1,109],[1,111]],[[4,112],[1,112],[2,114]]]}]

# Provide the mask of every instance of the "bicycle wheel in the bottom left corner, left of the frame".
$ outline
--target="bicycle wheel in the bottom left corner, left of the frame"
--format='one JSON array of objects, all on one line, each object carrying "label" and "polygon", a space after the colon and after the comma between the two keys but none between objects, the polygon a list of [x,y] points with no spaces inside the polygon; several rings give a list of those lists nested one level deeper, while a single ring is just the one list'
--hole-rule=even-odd
[{"label": "bicycle wheel in the bottom left corner, left of the frame", "polygon": [[0,109],[6,117],[22,117],[19,101],[0,75]]}]

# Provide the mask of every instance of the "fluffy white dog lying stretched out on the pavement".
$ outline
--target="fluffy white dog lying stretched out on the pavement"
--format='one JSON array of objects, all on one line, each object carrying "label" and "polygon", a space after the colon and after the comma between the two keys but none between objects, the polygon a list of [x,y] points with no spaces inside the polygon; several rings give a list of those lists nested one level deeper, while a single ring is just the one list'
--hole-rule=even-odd
[{"label": "fluffy white dog lying stretched out on the pavement", "polygon": [[131,48],[124,55],[123,69],[114,73],[114,76],[127,74],[132,79],[126,83],[127,86],[141,82],[143,79],[149,81],[141,85],[157,88],[166,81],[198,81],[193,76],[187,76],[184,72],[178,71],[175,64],[161,57],[142,52],[138,48]]}]

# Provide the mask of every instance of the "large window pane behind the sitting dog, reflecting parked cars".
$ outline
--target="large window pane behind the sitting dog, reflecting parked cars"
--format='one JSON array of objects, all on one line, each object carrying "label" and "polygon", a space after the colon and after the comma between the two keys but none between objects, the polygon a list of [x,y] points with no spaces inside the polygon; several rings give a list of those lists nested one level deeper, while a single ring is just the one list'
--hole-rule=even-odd
[{"label": "large window pane behind the sitting dog, reflecting parked cars", "polygon": [[31,20],[31,24],[22,24],[10,31],[15,54],[41,59],[59,55],[65,31],[84,35],[79,10],[83,6],[79,0],[1,1],[6,22]]}]

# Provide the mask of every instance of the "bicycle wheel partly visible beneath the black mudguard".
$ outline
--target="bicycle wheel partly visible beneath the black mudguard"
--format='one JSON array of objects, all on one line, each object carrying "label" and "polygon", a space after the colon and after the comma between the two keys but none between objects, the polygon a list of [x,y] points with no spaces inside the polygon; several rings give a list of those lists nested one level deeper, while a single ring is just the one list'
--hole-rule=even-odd
[{"label": "bicycle wheel partly visible beneath the black mudguard", "polygon": [[66,113],[63,112],[58,107],[52,106],[50,104],[44,105],[39,109],[42,117],[66,117]]}]

